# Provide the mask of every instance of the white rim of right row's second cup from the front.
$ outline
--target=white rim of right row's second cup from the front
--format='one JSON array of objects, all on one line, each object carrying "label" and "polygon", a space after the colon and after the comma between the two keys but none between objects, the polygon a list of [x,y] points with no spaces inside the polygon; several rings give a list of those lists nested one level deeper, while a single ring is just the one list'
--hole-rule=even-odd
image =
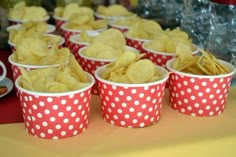
[{"label": "white rim of right row's second cup from the front", "polygon": [[[172,57],[176,57],[177,56],[176,53],[161,52],[161,51],[156,51],[156,50],[152,50],[152,49],[146,48],[145,45],[148,44],[149,42],[151,42],[151,41],[144,42],[142,44],[142,49],[146,50],[148,53],[159,54],[159,55],[164,55],[164,56],[172,56]],[[199,52],[199,48],[195,44],[192,44],[192,46],[194,46],[194,48],[196,48],[196,50],[192,51],[192,54],[195,55],[195,54],[197,54]]]}]

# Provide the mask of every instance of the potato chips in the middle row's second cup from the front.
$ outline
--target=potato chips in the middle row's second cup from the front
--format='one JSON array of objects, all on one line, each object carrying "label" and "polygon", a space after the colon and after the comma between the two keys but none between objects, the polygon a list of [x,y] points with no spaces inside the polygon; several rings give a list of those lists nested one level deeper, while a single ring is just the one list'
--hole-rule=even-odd
[{"label": "potato chips in the middle row's second cup from the front", "polygon": [[122,32],[108,29],[93,37],[84,55],[97,59],[115,59],[126,49],[126,40]]}]

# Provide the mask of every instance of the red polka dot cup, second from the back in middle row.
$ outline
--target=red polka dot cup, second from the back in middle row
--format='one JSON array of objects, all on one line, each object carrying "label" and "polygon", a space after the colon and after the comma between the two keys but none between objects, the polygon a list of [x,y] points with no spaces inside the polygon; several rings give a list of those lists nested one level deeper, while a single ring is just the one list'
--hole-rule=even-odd
[{"label": "red polka dot cup, second from the back in middle row", "polygon": [[[68,46],[69,43],[69,39],[71,36],[76,35],[76,34],[80,34],[82,31],[81,30],[76,30],[76,29],[70,29],[70,28],[66,28],[65,27],[66,24],[63,24],[61,26],[62,29],[62,34],[66,40],[66,47]],[[106,30],[107,28],[102,28],[102,29],[97,29],[97,30],[88,30],[87,32],[102,32],[104,30]]]}]

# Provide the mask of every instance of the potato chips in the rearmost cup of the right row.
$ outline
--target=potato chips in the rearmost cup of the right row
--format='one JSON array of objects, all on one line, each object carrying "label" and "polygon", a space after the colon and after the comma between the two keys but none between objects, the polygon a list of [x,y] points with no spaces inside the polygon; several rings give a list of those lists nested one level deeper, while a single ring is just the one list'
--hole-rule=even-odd
[{"label": "potato chips in the rearmost cup of the right row", "polygon": [[115,4],[111,6],[100,5],[97,8],[97,13],[103,16],[131,16],[132,12],[128,11],[124,6]]}]

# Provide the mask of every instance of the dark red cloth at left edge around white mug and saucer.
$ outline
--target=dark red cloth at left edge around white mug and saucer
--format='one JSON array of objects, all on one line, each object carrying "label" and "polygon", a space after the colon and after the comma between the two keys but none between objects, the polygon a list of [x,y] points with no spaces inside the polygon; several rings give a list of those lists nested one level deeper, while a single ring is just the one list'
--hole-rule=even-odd
[{"label": "dark red cloth at left edge around white mug and saucer", "polygon": [[[0,60],[6,65],[7,77],[13,81],[11,65],[8,62],[10,54],[10,49],[0,49]],[[13,88],[9,94],[0,98],[0,124],[18,122],[23,122],[23,116],[16,90]]]}]

